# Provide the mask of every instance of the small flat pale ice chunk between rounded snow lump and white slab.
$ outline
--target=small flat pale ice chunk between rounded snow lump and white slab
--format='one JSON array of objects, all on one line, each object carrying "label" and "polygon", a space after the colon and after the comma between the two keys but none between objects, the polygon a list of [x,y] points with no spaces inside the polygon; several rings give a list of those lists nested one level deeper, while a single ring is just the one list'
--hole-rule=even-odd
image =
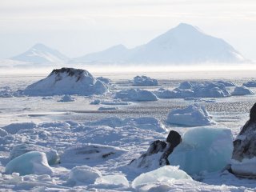
[{"label": "small flat pale ice chunk between rounded snow lump and white slab", "polygon": [[96,179],[95,184],[111,186],[129,186],[129,182],[122,174],[106,175]]}]

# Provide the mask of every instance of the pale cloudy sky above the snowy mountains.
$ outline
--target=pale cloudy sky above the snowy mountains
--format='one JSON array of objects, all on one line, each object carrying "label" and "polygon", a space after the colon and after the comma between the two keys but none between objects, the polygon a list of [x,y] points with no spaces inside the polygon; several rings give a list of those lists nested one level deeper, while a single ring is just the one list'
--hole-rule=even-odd
[{"label": "pale cloudy sky above the snowy mountains", "polygon": [[186,22],[256,61],[255,10],[255,0],[1,0],[0,58],[37,42],[70,58],[133,48]]}]

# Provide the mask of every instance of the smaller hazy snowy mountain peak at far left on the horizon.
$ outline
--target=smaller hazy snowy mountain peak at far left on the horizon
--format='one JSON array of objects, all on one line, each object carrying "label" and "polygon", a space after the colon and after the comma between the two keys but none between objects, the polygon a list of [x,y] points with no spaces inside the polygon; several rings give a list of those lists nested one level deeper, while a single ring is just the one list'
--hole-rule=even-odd
[{"label": "smaller hazy snowy mountain peak at far left on the horizon", "polygon": [[69,60],[69,58],[58,52],[58,50],[53,50],[41,43],[35,44],[30,50],[10,59],[33,64],[63,63]]}]

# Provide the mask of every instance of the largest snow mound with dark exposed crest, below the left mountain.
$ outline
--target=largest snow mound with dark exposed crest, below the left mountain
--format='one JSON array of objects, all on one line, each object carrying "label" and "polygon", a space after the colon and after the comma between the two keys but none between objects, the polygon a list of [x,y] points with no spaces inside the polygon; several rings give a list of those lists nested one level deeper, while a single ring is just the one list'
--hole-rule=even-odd
[{"label": "largest snow mound with dark exposed crest, below the left mountain", "polygon": [[108,91],[105,83],[94,78],[87,70],[62,68],[27,86],[24,94],[30,96],[50,96],[54,94],[104,94]]}]

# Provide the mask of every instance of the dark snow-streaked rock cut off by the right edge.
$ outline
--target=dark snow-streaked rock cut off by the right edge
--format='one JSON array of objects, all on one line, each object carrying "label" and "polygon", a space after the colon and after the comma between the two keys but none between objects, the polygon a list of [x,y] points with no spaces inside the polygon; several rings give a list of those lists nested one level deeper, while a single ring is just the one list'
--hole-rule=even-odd
[{"label": "dark snow-streaked rock cut off by the right edge", "polygon": [[243,158],[256,157],[256,103],[250,109],[250,119],[234,140],[232,158],[242,162]]}]

